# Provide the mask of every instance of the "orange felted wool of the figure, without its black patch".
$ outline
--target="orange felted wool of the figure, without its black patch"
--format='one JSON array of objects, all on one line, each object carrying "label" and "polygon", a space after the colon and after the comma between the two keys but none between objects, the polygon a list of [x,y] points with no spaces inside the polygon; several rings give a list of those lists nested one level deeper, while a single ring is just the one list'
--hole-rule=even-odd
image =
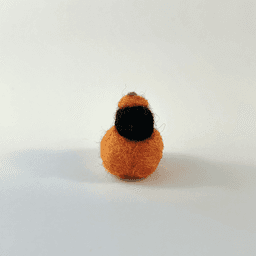
[{"label": "orange felted wool of the figure, without its black patch", "polygon": [[[134,93],[125,95],[118,103],[119,109],[134,106],[148,108],[148,101]],[[164,148],[162,137],[155,128],[149,138],[138,141],[121,136],[115,125],[106,132],[100,146],[103,166],[121,179],[140,179],[152,174]]]}]

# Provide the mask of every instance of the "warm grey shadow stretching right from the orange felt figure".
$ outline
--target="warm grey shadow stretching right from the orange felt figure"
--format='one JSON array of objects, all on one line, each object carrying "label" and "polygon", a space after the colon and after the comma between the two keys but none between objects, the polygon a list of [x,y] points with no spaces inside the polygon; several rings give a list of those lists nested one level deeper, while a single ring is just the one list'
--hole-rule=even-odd
[{"label": "warm grey shadow stretching right from the orange felt figure", "polygon": [[207,186],[240,190],[255,186],[256,166],[164,153],[156,171],[140,184],[182,188]]}]

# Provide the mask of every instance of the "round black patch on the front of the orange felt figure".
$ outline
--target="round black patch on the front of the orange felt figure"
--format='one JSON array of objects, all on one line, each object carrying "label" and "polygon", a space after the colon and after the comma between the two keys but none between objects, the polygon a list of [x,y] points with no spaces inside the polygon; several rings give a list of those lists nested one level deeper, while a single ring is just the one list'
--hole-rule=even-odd
[{"label": "round black patch on the front of the orange felt figure", "polygon": [[143,141],[154,131],[154,118],[144,106],[125,107],[116,112],[115,127],[118,133],[131,141]]}]

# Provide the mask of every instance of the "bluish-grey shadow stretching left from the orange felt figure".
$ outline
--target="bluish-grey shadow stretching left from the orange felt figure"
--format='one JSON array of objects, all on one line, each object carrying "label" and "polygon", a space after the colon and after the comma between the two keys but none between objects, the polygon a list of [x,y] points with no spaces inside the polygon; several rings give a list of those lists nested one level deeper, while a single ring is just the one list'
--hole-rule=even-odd
[{"label": "bluish-grey shadow stretching left from the orange felt figure", "polygon": [[77,182],[111,181],[101,165],[97,149],[36,149],[8,154],[4,166],[16,173],[38,178],[60,178]]}]

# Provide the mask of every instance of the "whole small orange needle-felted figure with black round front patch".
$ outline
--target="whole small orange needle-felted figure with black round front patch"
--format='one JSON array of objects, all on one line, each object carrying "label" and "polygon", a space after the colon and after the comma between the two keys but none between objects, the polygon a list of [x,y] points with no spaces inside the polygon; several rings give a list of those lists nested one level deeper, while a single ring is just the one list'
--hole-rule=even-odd
[{"label": "whole small orange needle-felted figure with black round front patch", "polygon": [[121,98],[115,125],[106,132],[100,147],[103,166],[121,179],[146,178],[156,170],[164,144],[145,98],[135,92]]}]

